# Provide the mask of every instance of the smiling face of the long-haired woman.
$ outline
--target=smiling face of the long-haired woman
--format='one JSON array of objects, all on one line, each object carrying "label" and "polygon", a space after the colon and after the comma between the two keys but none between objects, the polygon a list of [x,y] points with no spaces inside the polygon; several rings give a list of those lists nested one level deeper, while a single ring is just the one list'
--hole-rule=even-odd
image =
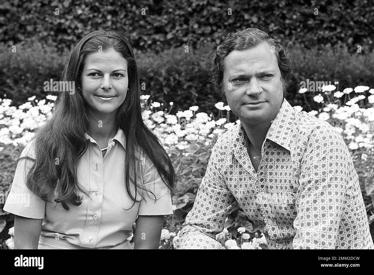
[{"label": "smiling face of the long-haired woman", "polygon": [[113,49],[89,54],[80,81],[92,115],[114,114],[127,94],[127,61]]}]

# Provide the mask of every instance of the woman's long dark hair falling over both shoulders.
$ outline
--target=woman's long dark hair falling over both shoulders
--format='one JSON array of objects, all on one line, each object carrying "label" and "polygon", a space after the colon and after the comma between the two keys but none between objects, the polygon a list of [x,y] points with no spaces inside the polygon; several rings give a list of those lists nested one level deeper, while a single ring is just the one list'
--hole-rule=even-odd
[{"label": "woman's long dark hair falling over both shoulders", "polygon": [[[93,52],[98,52],[100,47],[102,51],[114,49],[122,54],[128,63],[129,90],[119,108],[116,122],[126,137],[125,186],[135,203],[139,202],[138,189],[150,192],[142,183],[137,182],[136,167],[140,161],[135,155],[137,148],[148,155],[162,181],[170,189],[175,184],[175,171],[159,139],[143,122],[137,62],[130,43],[122,34],[117,31],[93,31],[80,39],[71,51],[61,79],[74,81],[75,87],[82,87],[80,76],[85,58]],[[78,160],[88,149],[85,137],[89,129],[86,108],[82,89],[75,89],[74,93],[59,91],[52,118],[36,132],[34,138],[36,159],[22,157],[34,161],[27,174],[27,187],[45,201],[50,201],[57,194],[54,201],[61,202],[65,210],[70,208],[69,204],[79,206],[82,203],[82,196],[78,195],[79,191],[87,194],[77,179]],[[19,158],[16,164],[22,158]],[[58,165],[56,165],[57,159]],[[131,186],[135,186],[135,196]],[[144,199],[144,196],[141,196]]]}]

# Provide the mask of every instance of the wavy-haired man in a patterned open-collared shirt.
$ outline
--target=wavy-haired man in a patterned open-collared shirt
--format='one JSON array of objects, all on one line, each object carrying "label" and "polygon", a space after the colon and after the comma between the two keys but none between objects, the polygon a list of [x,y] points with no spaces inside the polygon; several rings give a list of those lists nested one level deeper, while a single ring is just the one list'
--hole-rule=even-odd
[{"label": "wavy-haired man in a patterned open-collared shirt", "polygon": [[263,31],[230,33],[212,82],[240,125],[218,138],[177,248],[223,248],[215,235],[239,204],[270,249],[374,248],[340,134],[285,100],[289,54]]}]

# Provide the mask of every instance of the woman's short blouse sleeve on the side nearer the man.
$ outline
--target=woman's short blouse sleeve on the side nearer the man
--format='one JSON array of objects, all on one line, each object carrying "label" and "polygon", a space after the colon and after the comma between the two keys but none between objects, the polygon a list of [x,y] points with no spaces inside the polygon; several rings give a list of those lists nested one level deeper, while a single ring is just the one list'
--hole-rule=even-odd
[{"label": "woman's short blouse sleeve on the side nearer the man", "polygon": [[162,181],[153,162],[148,158],[143,158],[144,171],[143,183],[150,192],[144,191],[144,199],[140,202],[138,215],[168,215],[173,214],[171,202],[171,192],[168,186]]}]

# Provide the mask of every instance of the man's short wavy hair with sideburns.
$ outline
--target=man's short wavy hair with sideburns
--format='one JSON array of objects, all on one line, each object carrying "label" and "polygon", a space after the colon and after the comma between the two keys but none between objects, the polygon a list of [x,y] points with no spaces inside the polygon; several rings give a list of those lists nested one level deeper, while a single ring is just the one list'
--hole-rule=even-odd
[{"label": "man's short wavy hair with sideburns", "polygon": [[293,74],[291,67],[291,57],[288,51],[283,48],[281,43],[270,38],[269,34],[257,28],[247,28],[245,30],[233,31],[225,37],[218,45],[214,54],[214,68],[211,76],[211,82],[214,89],[220,92],[222,97],[226,99],[226,93],[223,85],[224,60],[230,52],[234,50],[246,50],[254,48],[261,43],[267,42],[275,51],[278,60],[278,67],[281,71],[283,97],[287,95],[287,88],[291,82]]}]

